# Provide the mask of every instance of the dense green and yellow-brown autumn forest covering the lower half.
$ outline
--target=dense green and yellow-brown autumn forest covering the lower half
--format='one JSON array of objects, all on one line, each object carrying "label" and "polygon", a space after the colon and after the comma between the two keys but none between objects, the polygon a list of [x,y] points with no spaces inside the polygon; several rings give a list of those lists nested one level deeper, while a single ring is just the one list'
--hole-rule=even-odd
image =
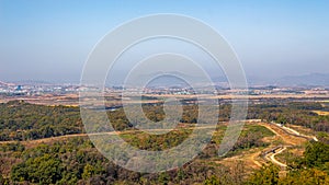
[{"label": "dense green and yellow-brown autumn forest covering the lower half", "polygon": [[[163,136],[135,130],[118,108],[107,112],[121,137],[143,150],[160,151],[181,143],[191,135],[197,122],[197,105],[184,105],[181,129]],[[145,105],[149,119],[161,120],[161,106]],[[287,161],[286,175],[281,169],[265,164],[251,172],[241,161],[230,166],[218,161],[256,148],[265,148],[264,140],[274,134],[259,125],[246,125],[238,141],[226,157],[218,157],[218,147],[229,119],[230,105],[219,107],[218,126],[208,146],[193,161],[180,169],[158,174],[137,173],[115,165],[104,158],[86,135],[49,142],[54,138],[83,134],[78,107],[33,105],[14,101],[0,104],[0,184],[329,184],[329,116],[314,111],[326,111],[320,103],[281,102],[251,104],[248,118],[282,124],[294,124],[313,129],[319,141],[309,141],[302,158]],[[136,118],[139,122],[139,118]],[[103,127],[98,131],[106,131]],[[29,142],[22,142],[29,141]],[[32,144],[33,143],[33,144]]]}]

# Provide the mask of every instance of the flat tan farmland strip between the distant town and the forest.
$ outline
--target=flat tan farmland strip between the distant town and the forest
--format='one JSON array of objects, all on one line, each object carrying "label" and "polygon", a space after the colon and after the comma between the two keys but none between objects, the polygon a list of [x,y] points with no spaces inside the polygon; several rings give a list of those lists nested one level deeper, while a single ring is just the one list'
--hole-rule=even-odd
[{"label": "flat tan farmland strip between the distant town and the forest", "polygon": [[[137,101],[134,99],[124,99],[121,100],[121,93],[116,94],[105,94],[105,105],[106,106],[116,106],[122,105],[122,103],[131,103],[131,104],[138,104],[138,103],[158,103],[160,100],[163,99],[181,99],[181,100],[191,100],[191,99],[204,99],[204,100],[231,100],[231,99],[249,99],[250,101],[266,101],[272,99],[277,100],[311,100],[315,101],[318,99],[317,102],[327,102],[322,101],[324,99],[329,99],[329,94],[261,94],[261,95],[208,95],[208,94],[198,94],[198,95],[178,95],[178,94],[145,94],[148,97],[157,97],[159,100],[141,100]],[[132,97],[136,96],[136,94],[132,94]],[[66,105],[66,106],[79,106],[79,94],[63,94],[63,95],[54,95],[54,94],[44,94],[39,96],[5,96],[0,99],[0,103],[7,103],[14,100],[23,100],[27,103],[32,104],[39,104],[39,105]],[[92,101],[92,100],[91,100]],[[100,102],[102,103],[102,102]],[[328,114],[328,113],[321,113]]]}]

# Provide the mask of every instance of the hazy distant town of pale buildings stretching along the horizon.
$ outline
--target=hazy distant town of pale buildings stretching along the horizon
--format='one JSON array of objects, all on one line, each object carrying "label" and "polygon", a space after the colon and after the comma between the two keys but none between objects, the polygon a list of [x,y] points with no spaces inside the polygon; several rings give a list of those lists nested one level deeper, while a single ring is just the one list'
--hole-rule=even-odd
[{"label": "hazy distant town of pale buildings stretching along the horizon", "polygon": [[[12,100],[24,100],[34,104],[46,105],[79,105],[79,92],[91,91],[93,86],[82,86],[79,84],[38,84],[38,83],[7,83],[0,82],[0,103]],[[215,85],[214,88],[202,86],[192,89],[180,85],[148,86],[144,89],[124,88],[120,85],[104,88],[107,100],[116,100],[121,104],[122,93],[132,96],[145,95],[154,97],[178,96],[182,99],[193,99],[197,95],[211,95],[218,100],[230,100],[231,96],[247,96],[250,100],[260,101],[262,99],[304,99],[304,100],[327,100],[329,89],[322,86],[275,86],[275,85],[253,85],[248,90],[231,90],[228,85]],[[127,101],[127,100],[126,100]],[[113,101],[112,101],[113,102]],[[133,102],[133,101],[132,101]],[[113,104],[111,104],[113,105]],[[111,106],[110,105],[110,106]]]}]

